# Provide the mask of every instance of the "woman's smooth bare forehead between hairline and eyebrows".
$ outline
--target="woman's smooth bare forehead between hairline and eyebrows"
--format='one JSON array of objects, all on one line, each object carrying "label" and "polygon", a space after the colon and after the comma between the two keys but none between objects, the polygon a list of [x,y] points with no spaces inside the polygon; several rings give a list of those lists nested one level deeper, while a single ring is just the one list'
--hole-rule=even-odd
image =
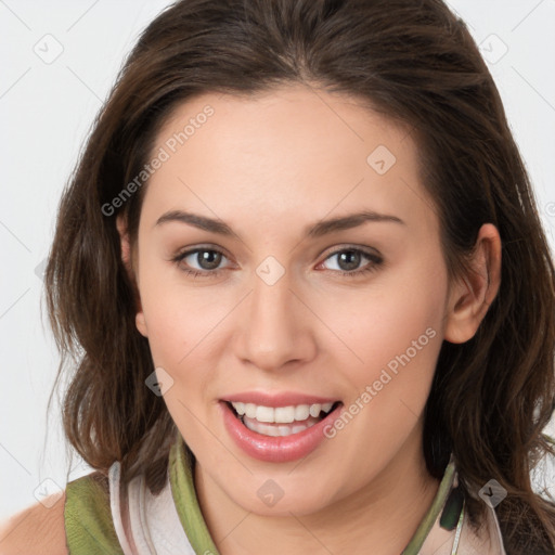
[{"label": "woman's smooth bare forehead between hairline and eyebrows", "polygon": [[231,223],[362,207],[429,218],[431,209],[409,129],[341,93],[198,95],[162,127],[153,156],[162,152],[144,199],[153,218],[192,206]]}]

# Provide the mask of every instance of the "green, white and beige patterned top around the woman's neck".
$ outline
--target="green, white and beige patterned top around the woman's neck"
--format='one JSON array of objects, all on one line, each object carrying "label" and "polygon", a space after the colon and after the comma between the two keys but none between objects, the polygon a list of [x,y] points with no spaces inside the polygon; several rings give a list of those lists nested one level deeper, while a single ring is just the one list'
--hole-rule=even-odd
[{"label": "green, white and beige patterned top around the woman's neck", "polygon": [[[150,492],[143,476],[122,488],[117,462],[107,477],[93,473],[69,482],[64,509],[69,553],[219,555],[198,505],[193,465],[178,434],[166,486],[158,495]],[[488,509],[486,522],[476,532],[466,521],[456,486],[451,462],[402,555],[506,555],[494,511]]]}]

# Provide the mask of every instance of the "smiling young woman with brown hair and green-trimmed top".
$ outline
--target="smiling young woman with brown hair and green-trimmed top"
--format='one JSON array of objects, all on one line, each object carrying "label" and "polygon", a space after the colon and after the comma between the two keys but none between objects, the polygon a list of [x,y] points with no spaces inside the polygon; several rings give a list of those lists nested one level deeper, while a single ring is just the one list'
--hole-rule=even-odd
[{"label": "smiling young woman with brown hair and green-trimmed top", "polygon": [[180,1],[95,122],[47,270],[98,470],[7,553],[553,554],[530,472],[554,283],[441,1]]}]

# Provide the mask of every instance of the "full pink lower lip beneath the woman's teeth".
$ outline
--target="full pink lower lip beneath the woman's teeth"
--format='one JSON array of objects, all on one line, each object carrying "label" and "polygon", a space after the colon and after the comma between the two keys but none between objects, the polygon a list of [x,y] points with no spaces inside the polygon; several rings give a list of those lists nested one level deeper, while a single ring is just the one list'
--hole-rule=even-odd
[{"label": "full pink lower lip beneath the woman's teeth", "polygon": [[334,411],[298,434],[291,436],[264,436],[248,429],[230,409],[227,402],[220,401],[223,422],[233,441],[249,456],[269,463],[288,463],[310,454],[326,439],[324,428],[338,417],[339,404]]}]

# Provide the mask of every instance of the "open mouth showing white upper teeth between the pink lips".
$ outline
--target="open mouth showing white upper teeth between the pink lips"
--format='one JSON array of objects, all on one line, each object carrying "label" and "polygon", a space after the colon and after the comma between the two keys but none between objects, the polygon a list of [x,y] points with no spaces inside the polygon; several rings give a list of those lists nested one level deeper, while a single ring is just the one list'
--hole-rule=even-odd
[{"label": "open mouth showing white upper teeth between the pink lips", "polygon": [[271,408],[254,403],[224,402],[249,430],[271,437],[299,434],[324,420],[343,404],[340,401],[335,401],[324,404]]}]

